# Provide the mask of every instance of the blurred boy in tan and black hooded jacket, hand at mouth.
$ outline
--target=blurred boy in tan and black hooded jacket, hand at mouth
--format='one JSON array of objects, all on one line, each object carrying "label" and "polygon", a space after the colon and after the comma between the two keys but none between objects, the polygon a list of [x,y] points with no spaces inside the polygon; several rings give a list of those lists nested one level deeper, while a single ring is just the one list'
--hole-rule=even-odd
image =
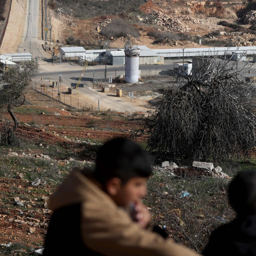
[{"label": "blurred boy in tan and black hooded jacket, hand at mouth", "polygon": [[141,198],[151,174],[148,155],[136,143],[116,138],[104,144],[94,172],[74,170],[51,197],[44,256],[195,256],[149,230]]}]

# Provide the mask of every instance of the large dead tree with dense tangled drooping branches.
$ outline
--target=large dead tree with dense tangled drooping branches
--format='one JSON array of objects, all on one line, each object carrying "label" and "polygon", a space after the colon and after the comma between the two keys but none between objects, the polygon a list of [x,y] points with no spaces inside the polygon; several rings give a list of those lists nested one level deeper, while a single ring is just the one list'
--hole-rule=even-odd
[{"label": "large dead tree with dense tangled drooping branches", "polygon": [[[135,136],[161,159],[228,160],[248,158],[255,148],[254,85],[247,62],[197,58],[197,68],[164,92],[156,111],[141,120]],[[183,71],[184,72],[184,71]]]}]

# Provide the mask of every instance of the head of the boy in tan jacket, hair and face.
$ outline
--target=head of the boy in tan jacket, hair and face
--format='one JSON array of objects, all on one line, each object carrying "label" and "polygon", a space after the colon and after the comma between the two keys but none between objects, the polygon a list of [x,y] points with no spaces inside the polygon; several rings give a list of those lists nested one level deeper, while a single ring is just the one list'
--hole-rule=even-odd
[{"label": "head of the boy in tan jacket, hair and face", "polygon": [[110,140],[98,152],[94,177],[118,206],[138,202],[151,174],[148,154],[132,140]]}]

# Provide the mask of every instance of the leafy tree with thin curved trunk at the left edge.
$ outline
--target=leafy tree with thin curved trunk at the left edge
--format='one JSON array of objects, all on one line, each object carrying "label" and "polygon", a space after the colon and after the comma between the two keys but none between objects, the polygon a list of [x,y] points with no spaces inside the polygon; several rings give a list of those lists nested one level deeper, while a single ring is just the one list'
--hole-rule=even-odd
[{"label": "leafy tree with thin curved trunk at the left edge", "polygon": [[[19,121],[14,114],[14,104],[20,96],[23,95],[26,86],[31,82],[31,79],[38,72],[38,65],[34,61],[25,62],[14,68],[10,68],[0,77],[0,119],[3,122],[2,129],[0,130],[0,143],[4,145],[10,145],[13,142],[14,131],[19,126]],[[10,114],[14,125],[5,120],[3,117],[4,110],[7,109]]]}]

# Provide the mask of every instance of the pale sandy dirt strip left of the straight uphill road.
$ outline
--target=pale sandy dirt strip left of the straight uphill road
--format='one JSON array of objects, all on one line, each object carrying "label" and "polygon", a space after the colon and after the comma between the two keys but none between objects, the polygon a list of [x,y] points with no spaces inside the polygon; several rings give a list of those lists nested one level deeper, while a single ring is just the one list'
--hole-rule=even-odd
[{"label": "pale sandy dirt strip left of the straight uphill road", "polygon": [[17,52],[25,29],[26,6],[27,0],[12,1],[9,22],[0,48],[1,53]]}]

